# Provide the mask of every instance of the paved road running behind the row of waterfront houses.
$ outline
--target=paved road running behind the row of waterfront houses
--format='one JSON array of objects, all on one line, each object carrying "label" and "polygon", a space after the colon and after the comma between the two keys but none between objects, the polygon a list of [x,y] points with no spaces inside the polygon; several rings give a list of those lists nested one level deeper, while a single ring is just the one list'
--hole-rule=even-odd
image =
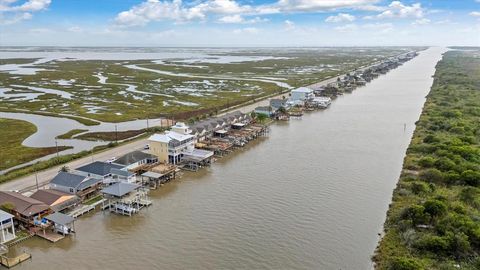
[{"label": "paved road running behind the row of waterfront houses", "polygon": [[[360,69],[365,69],[365,68],[367,68],[367,67],[363,67],[363,68],[360,68]],[[341,75],[341,76],[343,76],[343,75]],[[314,86],[318,87],[318,86],[322,86],[322,85],[327,85],[328,83],[335,82],[336,80],[337,80],[337,77],[330,78],[330,79],[323,80],[321,82],[312,84],[312,85],[310,85],[310,87],[314,87]],[[268,99],[264,99],[264,100],[261,100],[261,101],[258,101],[258,102],[252,103],[252,104],[247,104],[247,105],[244,105],[242,107],[223,112],[221,114],[225,114],[227,112],[237,111],[237,110],[240,110],[243,113],[249,113],[249,112],[253,111],[255,109],[255,107],[257,107],[257,106],[268,105],[269,104],[269,99],[271,99],[271,98],[281,98],[282,96],[285,96],[285,95],[288,95],[288,94],[285,94],[285,93],[284,94],[279,94],[277,96],[273,96],[273,97],[270,97]],[[18,178],[16,180],[12,180],[10,182],[0,184],[0,190],[18,190],[20,192],[28,192],[28,191],[34,190],[36,188],[36,185],[37,185],[36,184],[36,179],[38,179],[39,187],[45,186],[53,177],[55,177],[55,175],[57,175],[58,171],[63,166],[68,166],[69,168],[74,169],[74,168],[78,168],[82,165],[86,165],[86,164],[88,164],[92,161],[98,161],[98,160],[105,161],[105,160],[110,159],[112,157],[120,157],[120,156],[122,156],[124,154],[127,154],[129,152],[132,152],[134,150],[143,149],[145,144],[147,144],[146,139],[135,140],[135,141],[132,141],[128,144],[120,145],[118,147],[111,148],[111,149],[105,150],[105,151],[100,152],[100,153],[96,153],[92,156],[83,157],[83,158],[71,161],[67,164],[59,165],[59,166],[56,166],[56,167],[53,167],[53,168],[50,168],[50,169],[47,169],[47,170],[44,170],[44,171],[40,171],[36,175],[33,174],[33,175],[24,176],[24,177]]]}]

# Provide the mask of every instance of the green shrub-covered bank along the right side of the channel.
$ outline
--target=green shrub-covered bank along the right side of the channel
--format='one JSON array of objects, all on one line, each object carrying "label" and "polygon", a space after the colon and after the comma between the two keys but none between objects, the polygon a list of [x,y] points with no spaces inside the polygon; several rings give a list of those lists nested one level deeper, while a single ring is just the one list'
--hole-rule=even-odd
[{"label": "green shrub-covered bank along the right side of the channel", "polygon": [[480,269],[480,51],[437,65],[417,122],[377,269]]}]

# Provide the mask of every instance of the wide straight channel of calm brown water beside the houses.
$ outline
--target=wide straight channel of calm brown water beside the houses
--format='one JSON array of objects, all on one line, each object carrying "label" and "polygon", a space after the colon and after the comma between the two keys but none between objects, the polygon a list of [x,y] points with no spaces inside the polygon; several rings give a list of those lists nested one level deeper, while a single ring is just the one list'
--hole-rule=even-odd
[{"label": "wide straight channel of calm brown water beside the houses", "polygon": [[[322,112],[153,191],[128,218],[17,247],[17,269],[369,269],[434,67],[431,48]],[[406,124],[406,130],[404,130]]]}]

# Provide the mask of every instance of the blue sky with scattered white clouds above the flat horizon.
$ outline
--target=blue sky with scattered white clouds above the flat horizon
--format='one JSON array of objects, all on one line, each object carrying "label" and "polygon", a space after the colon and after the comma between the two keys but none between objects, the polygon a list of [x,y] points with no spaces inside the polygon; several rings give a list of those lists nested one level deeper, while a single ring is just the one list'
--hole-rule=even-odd
[{"label": "blue sky with scattered white clouds above the flat horizon", "polygon": [[480,46],[480,0],[0,0],[0,46]]}]

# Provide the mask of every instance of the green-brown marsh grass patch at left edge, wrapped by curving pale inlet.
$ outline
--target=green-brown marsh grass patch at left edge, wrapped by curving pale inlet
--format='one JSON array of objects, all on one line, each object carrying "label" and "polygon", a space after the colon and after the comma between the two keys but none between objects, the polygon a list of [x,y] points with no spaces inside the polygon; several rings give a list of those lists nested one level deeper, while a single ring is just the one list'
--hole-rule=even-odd
[{"label": "green-brown marsh grass patch at left edge, wrapped by curving pale inlet", "polygon": [[[0,118],[0,170],[56,153],[56,147],[33,148],[22,145],[23,140],[37,131],[29,122]],[[58,147],[59,151],[68,147]]]}]

